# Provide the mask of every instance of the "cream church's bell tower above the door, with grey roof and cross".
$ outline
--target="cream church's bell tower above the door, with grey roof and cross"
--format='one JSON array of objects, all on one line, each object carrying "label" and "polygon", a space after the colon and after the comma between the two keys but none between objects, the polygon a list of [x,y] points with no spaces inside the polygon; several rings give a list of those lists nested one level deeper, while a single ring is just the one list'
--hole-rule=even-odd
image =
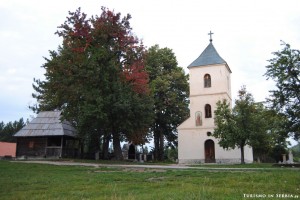
[{"label": "cream church's bell tower above the door, with grey roof and cross", "polygon": [[[189,66],[190,74],[190,116],[196,117],[196,126],[212,132],[214,110],[219,100],[231,102],[231,70],[218,54],[209,33],[208,46]],[[200,124],[199,124],[200,116]],[[198,121],[197,121],[198,120]]]}]

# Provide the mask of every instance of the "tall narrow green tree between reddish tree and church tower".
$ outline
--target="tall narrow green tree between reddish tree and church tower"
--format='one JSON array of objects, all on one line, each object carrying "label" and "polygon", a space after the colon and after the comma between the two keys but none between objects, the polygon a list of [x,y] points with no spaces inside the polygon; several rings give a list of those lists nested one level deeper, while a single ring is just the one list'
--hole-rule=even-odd
[{"label": "tall narrow green tree between reddish tree and church tower", "polygon": [[177,146],[177,126],[189,115],[188,76],[178,66],[171,49],[154,45],[148,49],[146,70],[149,73],[151,93],[154,98],[154,156],[164,159],[164,141]]}]

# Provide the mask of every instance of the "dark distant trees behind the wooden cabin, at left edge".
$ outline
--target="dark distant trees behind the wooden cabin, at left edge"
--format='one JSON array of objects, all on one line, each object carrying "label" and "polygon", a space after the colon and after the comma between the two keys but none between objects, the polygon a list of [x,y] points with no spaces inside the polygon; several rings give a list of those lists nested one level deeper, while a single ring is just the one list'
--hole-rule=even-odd
[{"label": "dark distant trees behind the wooden cabin, at left edge", "polygon": [[8,122],[7,124],[0,122],[0,141],[16,142],[16,139],[13,137],[13,135],[23,128],[26,123],[24,122],[23,118],[19,119],[19,121]]}]

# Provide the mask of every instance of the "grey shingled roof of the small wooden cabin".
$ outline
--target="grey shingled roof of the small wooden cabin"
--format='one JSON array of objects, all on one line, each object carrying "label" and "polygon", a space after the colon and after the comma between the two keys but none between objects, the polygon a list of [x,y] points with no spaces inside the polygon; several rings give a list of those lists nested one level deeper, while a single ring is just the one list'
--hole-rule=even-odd
[{"label": "grey shingled roof of the small wooden cabin", "polygon": [[37,136],[71,136],[75,137],[76,130],[67,121],[60,120],[60,111],[40,112],[36,118],[18,131],[15,137]]}]

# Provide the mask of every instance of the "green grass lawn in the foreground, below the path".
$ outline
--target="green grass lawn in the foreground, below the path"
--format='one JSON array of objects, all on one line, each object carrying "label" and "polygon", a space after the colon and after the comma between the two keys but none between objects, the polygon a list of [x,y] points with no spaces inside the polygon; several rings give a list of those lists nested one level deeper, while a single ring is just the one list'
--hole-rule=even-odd
[{"label": "green grass lawn in the foreground, below the path", "polygon": [[289,195],[286,197],[298,195],[300,199],[300,170],[288,168],[266,168],[257,171],[95,168],[0,161],[1,200],[231,200],[257,199],[247,196],[255,194],[266,195],[265,199],[273,199],[268,198],[271,195],[276,199],[276,195],[279,194]]}]

